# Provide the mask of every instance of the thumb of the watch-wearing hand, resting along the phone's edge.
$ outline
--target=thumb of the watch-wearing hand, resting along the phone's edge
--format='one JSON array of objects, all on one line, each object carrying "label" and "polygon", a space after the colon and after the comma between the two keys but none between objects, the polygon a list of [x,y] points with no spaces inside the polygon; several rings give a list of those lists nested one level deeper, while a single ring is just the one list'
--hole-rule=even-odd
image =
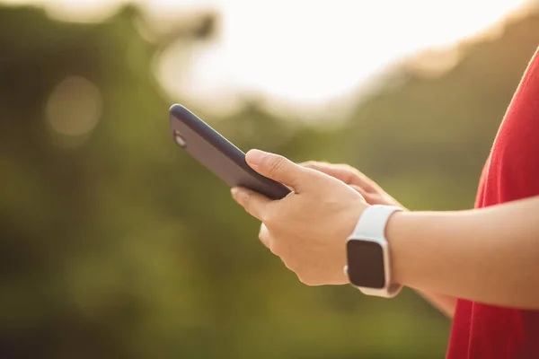
[{"label": "thumb of the watch-wearing hand, resting along the phone's edge", "polygon": [[245,161],[254,171],[271,180],[276,180],[295,189],[305,187],[308,170],[283,156],[260,150],[251,150],[245,155]]}]

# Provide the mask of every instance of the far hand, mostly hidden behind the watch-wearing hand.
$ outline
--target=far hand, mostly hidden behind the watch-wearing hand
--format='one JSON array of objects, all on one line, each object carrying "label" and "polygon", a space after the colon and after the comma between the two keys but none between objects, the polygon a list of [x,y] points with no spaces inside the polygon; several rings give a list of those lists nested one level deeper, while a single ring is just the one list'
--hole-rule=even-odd
[{"label": "far hand, mostly hidden behind the watch-wearing hand", "polygon": [[402,205],[380,188],[374,180],[349,166],[348,164],[331,164],[325,162],[304,162],[300,166],[321,171],[337,180],[341,180],[356,189],[369,205],[400,206]]}]

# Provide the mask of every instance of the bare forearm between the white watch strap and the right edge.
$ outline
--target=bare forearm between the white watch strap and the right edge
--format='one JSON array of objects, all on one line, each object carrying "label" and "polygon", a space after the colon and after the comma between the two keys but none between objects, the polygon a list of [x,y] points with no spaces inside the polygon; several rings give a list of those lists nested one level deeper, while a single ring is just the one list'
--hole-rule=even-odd
[{"label": "bare forearm between the white watch strap and the right edge", "polygon": [[539,197],[462,212],[402,212],[387,226],[396,282],[539,309]]}]

